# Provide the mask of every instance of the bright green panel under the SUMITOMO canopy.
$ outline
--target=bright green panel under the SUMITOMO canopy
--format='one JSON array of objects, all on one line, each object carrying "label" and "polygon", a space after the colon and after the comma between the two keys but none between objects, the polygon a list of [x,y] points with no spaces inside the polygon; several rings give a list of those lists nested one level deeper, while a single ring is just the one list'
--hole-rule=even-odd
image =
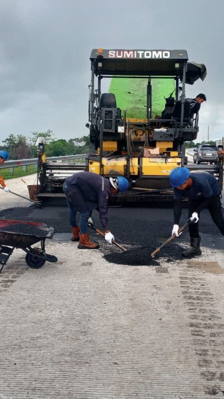
[{"label": "bright green panel under the SUMITOMO canopy", "polygon": [[[121,108],[122,116],[126,108],[127,118],[147,118],[147,79],[112,78],[109,93],[114,93],[117,107]],[[165,107],[164,97],[169,97],[175,89],[173,79],[152,79],[152,118],[161,116]]]}]

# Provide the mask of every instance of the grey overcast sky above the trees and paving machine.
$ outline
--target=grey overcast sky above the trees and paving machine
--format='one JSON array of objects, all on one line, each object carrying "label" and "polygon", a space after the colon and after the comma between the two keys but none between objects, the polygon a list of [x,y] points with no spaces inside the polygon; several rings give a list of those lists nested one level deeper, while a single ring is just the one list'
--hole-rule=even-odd
[{"label": "grey overcast sky above the trees and paving machine", "polygon": [[198,141],[224,136],[223,0],[1,0],[0,138],[52,129],[66,140],[85,127],[93,48],[185,49],[207,77]]}]

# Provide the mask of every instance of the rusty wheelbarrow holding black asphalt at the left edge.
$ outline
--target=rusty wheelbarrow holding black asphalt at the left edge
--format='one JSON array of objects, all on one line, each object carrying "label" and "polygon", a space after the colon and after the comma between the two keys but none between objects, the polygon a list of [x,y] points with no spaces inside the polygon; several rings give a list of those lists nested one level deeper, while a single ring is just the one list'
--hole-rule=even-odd
[{"label": "rusty wheelbarrow holding black asphalt at the left edge", "polygon": [[[31,235],[25,233],[20,234],[17,231],[12,231],[12,225],[24,223],[37,227],[40,229],[40,233],[38,235]],[[6,231],[7,226],[11,226],[9,232]],[[4,231],[1,231],[2,228],[4,228]],[[43,231],[42,236],[41,230]],[[25,260],[27,265],[32,269],[40,269],[46,260],[49,262],[57,262],[58,259],[56,256],[46,254],[45,252],[45,240],[46,238],[52,238],[53,235],[53,227],[49,227],[44,223],[37,221],[0,219],[0,267],[2,265],[0,273],[15,248],[20,248],[27,253]],[[31,247],[39,241],[40,248]]]}]

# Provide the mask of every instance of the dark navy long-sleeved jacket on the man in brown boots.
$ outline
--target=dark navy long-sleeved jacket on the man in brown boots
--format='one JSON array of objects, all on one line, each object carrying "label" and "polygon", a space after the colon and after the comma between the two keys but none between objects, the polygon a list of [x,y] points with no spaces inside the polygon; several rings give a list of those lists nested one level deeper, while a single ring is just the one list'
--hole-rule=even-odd
[{"label": "dark navy long-sleeved jacket on the man in brown boots", "polygon": [[111,194],[108,179],[93,172],[75,173],[65,179],[74,211],[96,209],[104,229],[108,228],[108,199]]}]

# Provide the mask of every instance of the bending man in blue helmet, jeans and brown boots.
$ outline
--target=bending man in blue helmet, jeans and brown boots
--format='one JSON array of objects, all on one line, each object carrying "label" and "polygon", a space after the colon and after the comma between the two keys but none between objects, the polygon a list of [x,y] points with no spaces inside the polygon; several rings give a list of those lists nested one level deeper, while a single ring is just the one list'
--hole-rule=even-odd
[{"label": "bending man in blue helmet, jeans and brown boots", "polygon": [[[72,241],[79,241],[79,249],[96,249],[98,243],[89,239],[88,223],[93,224],[92,211],[98,210],[101,224],[105,232],[105,240],[110,243],[114,235],[108,228],[108,200],[111,193],[124,192],[129,183],[123,176],[109,179],[93,172],[75,173],[66,178],[63,191],[69,208],[69,220],[72,226]],[[79,226],[76,213],[80,212]]]}]

